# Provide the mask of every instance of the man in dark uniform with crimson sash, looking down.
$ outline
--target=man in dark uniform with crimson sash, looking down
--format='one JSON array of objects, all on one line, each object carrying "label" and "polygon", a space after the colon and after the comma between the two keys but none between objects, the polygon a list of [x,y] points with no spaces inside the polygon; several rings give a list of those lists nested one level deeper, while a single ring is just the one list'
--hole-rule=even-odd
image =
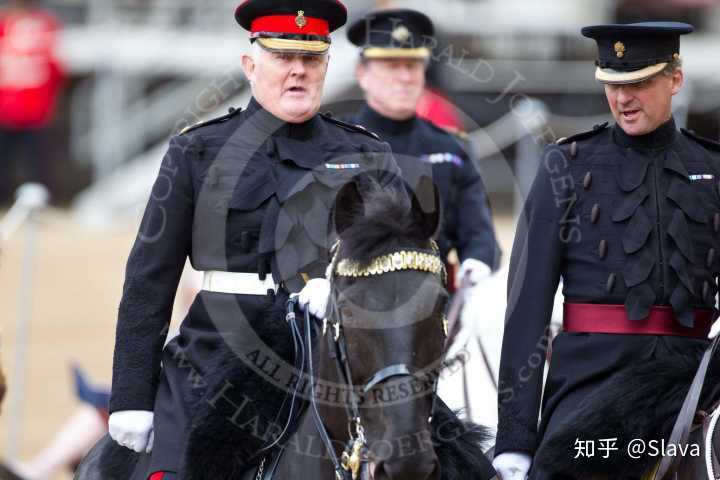
[{"label": "man in dark uniform with crimson sash, looking down", "polygon": [[[623,453],[596,450],[586,468],[582,450],[569,445],[557,455],[556,443],[582,442],[588,423],[622,425],[611,429],[618,440],[630,424],[648,419],[656,428],[674,418],[691,380],[676,372],[692,372],[707,346],[720,270],[720,145],[678,130],[671,111],[683,84],[680,36],[692,30],[675,22],[582,30],[597,42],[595,77],[615,122],[545,149],[518,224],[494,461],[503,480],[528,471],[535,479],[639,478],[647,465],[628,470]],[[560,277],[564,325],[543,392]],[[671,367],[627,374],[660,364]],[[649,388],[664,379],[672,379],[667,389]]]}]

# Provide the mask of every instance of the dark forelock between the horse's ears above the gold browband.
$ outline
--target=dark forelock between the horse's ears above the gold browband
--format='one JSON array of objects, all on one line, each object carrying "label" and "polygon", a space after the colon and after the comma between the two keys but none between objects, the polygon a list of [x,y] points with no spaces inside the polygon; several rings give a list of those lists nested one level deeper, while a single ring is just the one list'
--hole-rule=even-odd
[{"label": "dark forelock between the horse's ears above the gold browband", "polygon": [[350,225],[340,234],[340,257],[359,262],[388,253],[393,247],[428,248],[429,237],[420,216],[410,206],[409,187],[402,182],[383,187],[362,185],[362,203],[344,212]]}]

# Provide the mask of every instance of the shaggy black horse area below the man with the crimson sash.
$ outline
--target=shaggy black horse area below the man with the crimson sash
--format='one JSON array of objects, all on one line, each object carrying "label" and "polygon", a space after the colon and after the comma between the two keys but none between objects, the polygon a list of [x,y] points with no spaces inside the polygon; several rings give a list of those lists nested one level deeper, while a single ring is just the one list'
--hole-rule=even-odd
[{"label": "shaggy black horse area below the man with the crimson sash", "polygon": [[[536,461],[577,479],[720,478],[717,343],[699,366],[697,352],[680,352],[616,373],[563,420]],[[578,439],[594,444],[595,455],[579,455]]]}]

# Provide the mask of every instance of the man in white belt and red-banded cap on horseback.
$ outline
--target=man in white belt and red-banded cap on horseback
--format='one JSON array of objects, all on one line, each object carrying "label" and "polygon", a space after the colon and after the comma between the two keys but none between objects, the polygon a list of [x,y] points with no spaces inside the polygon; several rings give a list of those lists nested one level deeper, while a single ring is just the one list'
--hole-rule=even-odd
[{"label": "man in white belt and red-banded cap on horseback", "polygon": [[[324,313],[335,192],[361,172],[383,185],[397,178],[387,144],[318,114],[330,34],[346,16],[337,0],[244,1],[235,18],[250,32],[242,67],[253,98],[170,141],[127,263],[110,400],[110,435],[151,452],[153,480],[199,478],[178,471],[192,465],[183,451],[194,415],[217,393],[206,379],[227,345],[248,363],[234,387],[249,408],[234,420],[276,420],[285,392],[253,380],[260,360],[267,375],[292,362],[289,329],[274,312],[300,291],[304,308]],[[187,257],[204,272],[203,289],[163,348]],[[227,443],[216,435],[218,447]],[[233,454],[249,461],[268,442],[250,436]]]}]

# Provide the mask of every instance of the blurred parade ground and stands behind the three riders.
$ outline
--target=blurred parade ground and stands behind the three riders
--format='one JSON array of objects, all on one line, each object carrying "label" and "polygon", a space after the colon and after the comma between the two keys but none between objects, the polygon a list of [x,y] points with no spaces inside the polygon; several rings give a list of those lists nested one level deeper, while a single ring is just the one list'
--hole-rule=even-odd
[{"label": "blurred parade ground and stands behind the three riders", "polygon": [[[167,140],[249,98],[240,71],[249,42],[233,19],[237,3],[0,1],[0,361],[8,383],[0,461],[37,456],[109,384],[124,262]],[[683,38],[686,84],[675,99],[676,121],[720,136],[720,0],[344,3],[350,21],[371,8],[406,6],[435,22],[438,45],[420,113],[469,134],[504,262],[544,143],[610,120],[593,77],[595,44],[580,36],[582,26],[695,25]],[[344,31],[334,34],[331,52],[324,102],[341,114],[362,98],[357,53]],[[438,98],[454,106],[450,118],[437,114]],[[27,182],[46,189],[18,194]],[[188,278],[182,288],[191,292]],[[503,308],[488,310],[484,299],[503,297],[504,281],[482,289],[465,316],[496,374]],[[186,296],[179,297],[182,317]],[[478,305],[483,318],[473,314],[483,311]],[[473,348],[472,416],[494,426],[495,391]],[[74,364],[90,385],[73,374]],[[460,377],[444,379],[451,404],[464,401]]]}]

